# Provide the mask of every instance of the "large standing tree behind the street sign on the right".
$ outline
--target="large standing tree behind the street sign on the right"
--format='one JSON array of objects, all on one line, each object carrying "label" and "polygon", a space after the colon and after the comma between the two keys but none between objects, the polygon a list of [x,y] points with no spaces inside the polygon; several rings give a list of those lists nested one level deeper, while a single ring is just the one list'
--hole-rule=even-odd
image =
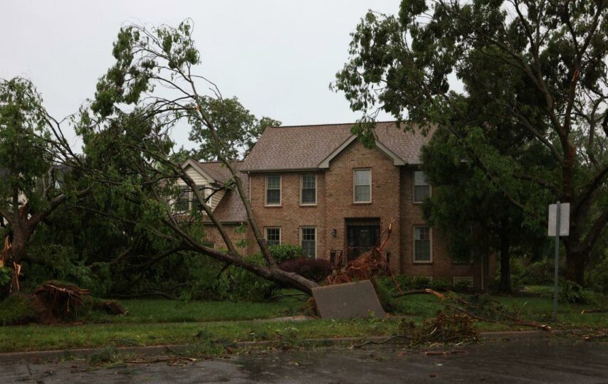
[{"label": "large standing tree behind the street sign on the right", "polygon": [[[404,0],[399,16],[370,11],[357,26],[335,87],[363,112],[364,137],[373,136],[365,122],[378,108],[406,129],[448,130],[466,161],[533,225],[550,201],[570,202],[567,278],[582,283],[608,222],[607,5],[436,0],[429,9]],[[463,90],[451,87],[453,73]],[[527,140],[520,156],[493,145],[486,131],[499,126]],[[542,146],[550,161],[521,161],[530,146]]]}]

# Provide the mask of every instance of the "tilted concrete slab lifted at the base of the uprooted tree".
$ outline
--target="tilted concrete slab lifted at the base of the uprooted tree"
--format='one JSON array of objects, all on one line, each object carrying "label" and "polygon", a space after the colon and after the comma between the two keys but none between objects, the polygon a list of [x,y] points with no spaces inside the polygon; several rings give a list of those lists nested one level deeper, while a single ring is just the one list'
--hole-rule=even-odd
[{"label": "tilted concrete slab lifted at the base of the uprooted tree", "polygon": [[362,318],[370,312],[379,319],[387,316],[369,280],[316,287],[313,297],[322,319]]}]

